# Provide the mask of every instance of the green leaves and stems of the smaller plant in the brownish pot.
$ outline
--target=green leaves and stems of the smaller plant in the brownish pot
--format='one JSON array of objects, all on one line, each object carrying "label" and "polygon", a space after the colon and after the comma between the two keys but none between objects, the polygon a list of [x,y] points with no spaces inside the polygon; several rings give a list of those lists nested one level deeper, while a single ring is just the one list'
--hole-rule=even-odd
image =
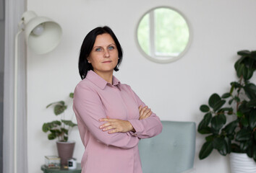
[{"label": "green leaves and stems of the smaller plant in the brownish pot", "polygon": [[[74,97],[73,93],[69,94],[70,98]],[[54,106],[54,114],[56,116],[61,115],[61,120],[54,120],[49,123],[43,123],[43,132],[48,133],[48,139],[54,140],[58,138],[58,141],[67,142],[69,139],[69,132],[77,124],[73,123],[72,120],[65,120],[64,111],[67,110],[67,105],[64,101],[53,102],[46,106],[46,108]]]}]

